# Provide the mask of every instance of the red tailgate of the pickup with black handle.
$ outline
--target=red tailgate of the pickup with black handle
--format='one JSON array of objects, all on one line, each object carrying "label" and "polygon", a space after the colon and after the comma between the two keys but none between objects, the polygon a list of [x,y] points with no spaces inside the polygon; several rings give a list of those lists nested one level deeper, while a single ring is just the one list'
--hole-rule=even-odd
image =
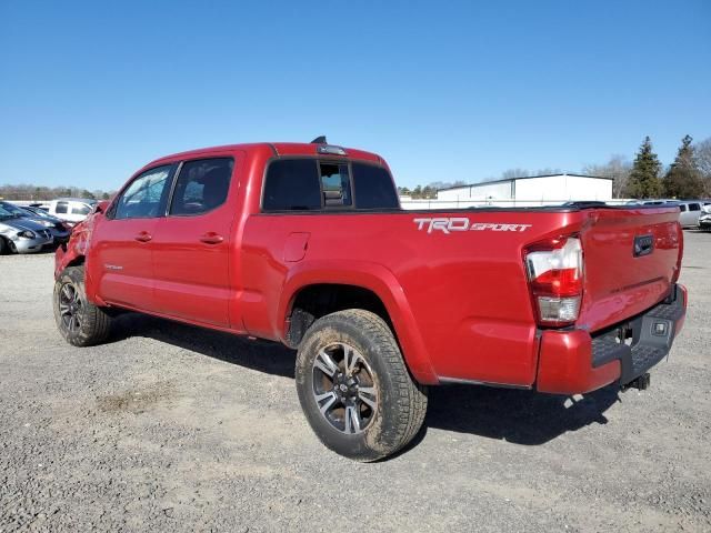
[{"label": "red tailgate of the pickup with black handle", "polygon": [[594,332],[670,294],[683,234],[678,208],[599,209],[590,218],[581,232],[584,293],[578,323]]}]

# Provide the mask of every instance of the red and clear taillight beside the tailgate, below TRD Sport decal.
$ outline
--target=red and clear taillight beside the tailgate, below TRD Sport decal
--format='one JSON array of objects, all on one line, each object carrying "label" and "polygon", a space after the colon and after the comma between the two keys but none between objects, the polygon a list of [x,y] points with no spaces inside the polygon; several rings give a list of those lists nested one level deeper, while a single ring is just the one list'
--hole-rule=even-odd
[{"label": "red and clear taillight beside the tailgate, below TRD Sport decal", "polygon": [[582,247],[577,237],[531,244],[525,268],[540,325],[563,326],[578,320],[582,300]]}]

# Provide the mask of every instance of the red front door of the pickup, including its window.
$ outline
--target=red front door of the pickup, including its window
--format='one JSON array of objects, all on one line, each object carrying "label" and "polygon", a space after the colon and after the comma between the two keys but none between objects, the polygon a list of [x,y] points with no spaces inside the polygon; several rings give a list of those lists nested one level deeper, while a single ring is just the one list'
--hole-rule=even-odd
[{"label": "red front door of the pickup, including its window", "polygon": [[152,240],[166,214],[173,171],[173,164],[164,164],[142,172],[94,227],[91,272],[104,301],[154,311]]}]

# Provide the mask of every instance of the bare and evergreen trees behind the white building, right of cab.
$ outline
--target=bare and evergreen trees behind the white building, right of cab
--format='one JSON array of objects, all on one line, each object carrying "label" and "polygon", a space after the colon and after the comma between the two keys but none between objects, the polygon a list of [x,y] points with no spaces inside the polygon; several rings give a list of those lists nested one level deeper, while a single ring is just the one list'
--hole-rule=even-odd
[{"label": "bare and evergreen trees behind the white building, right of cab", "polygon": [[[512,179],[560,172],[559,169],[540,169],[533,172],[525,169],[509,169],[500,178]],[[664,168],[654,153],[652,140],[647,137],[633,161],[615,154],[605,163],[583,167],[582,172],[612,178],[613,198],[711,198],[711,138],[693,143],[693,139],[685,135],[681,140],[674,161]],[[434,199],[438,189],[467,184],[469,183],[464,181],[433,182],[414,189],[399,187],[398,190],[400,194],[413,199]]]}]

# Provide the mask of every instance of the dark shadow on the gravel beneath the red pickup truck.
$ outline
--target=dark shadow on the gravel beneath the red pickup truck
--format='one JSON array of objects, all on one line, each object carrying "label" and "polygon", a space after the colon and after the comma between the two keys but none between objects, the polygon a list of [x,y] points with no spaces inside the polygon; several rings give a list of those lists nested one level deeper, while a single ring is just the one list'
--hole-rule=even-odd
[{"label": "dark shadow on the gravel beneath the red pickup truck", "polygon": [[[258,372],[294,376],[296,352],[274,342],[133,313],[119,316],[114,332],[114,342],[144,336]],[[424,431],[403,452],[417,446],[428,428],[540,445],[593,423],[605,424],[604,412],[617,401],[614,385],[575,398],[477,385],[433,386]]]}]

